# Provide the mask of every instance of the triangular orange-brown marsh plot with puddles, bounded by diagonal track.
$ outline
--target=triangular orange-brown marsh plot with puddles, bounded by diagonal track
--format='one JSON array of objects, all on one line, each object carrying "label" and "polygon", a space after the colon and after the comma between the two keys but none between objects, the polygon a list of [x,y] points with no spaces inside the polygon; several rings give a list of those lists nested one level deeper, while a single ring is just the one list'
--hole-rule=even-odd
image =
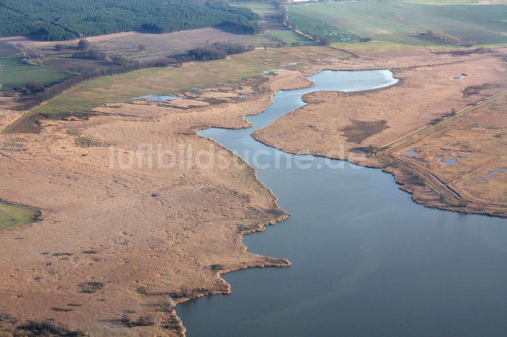
[{"label": "triangular orange-brown marsh plot with puddles, bounded by diagonal track", "polygon": [[[507,143],[495,137],[507,131],[506,107],[507,94],[502,94],[386,154],[422,177],[436,176],[432,183],[466,211],[507,216]],[[417,154],[407,156],[408,149]]]}]

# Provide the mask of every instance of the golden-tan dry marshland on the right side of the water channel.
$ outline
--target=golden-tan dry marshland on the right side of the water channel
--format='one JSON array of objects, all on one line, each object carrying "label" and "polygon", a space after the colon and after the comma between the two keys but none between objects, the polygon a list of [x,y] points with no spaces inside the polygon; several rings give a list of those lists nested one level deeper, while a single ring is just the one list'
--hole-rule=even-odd
[{"label": "golden-tan dry marshland on the right side of the water channel", "polygon": [[[400,160],[396,162],[389,160],[384,157],[383,151],[378,151],[396,140],[403,139],[507,89],[505,76],[507,69],[503,54],[497,51],[469,55],[431,51],[418,51],[417,54],[408,51],[399,53],[387,51],[362,53],[360,56],[358,59],[351,58],[340,62],[336,67],[333,65],[328,68],[364,69],[366,66],[364,60],[368,59],[369,65],[374,65],[372,68],[394,69],[394,75],[400,82],[390,88],[363,93],[308,94],[305,96],[308,105],[278,118],[269,127],[256,131],[253,136],[263,143],[291,153],[305,152],[329,156],[331,151],[340,153],[339,146],[343,145],[344,151],[338,156],[339,159],[384,167],[396,174],[397,181],[403,185],[402,188],[413,193],[414,199],[418,202],[464,213],[507,215],[507,210],[502,204],[505,202],[505,196],[501,188],[491,191],[490,201],[482,202],[479,190],[485,193],[488,186],[481,187],[480,184],[469,183],[468,192],[463,193],[469,195],[467,199],[470,202],[463,202],[463,198],[459,195],[449,193],[445,184],[431,178],[432,175],[446,174],[447,171],[449,171],[447,175],[456,177],[470,169],[466,165],[457,164],[446,166],[444,171],[436,171],[444,165],[444,161],[453,158],[453,151],[436,154],[436,156],[444,155],[442,158],[439,157],[441,164],[428,167],[427,173],[431,174],[426,175],[408,167],[417,165],[418,155],[402,163]],[[410,65],[410,62],[413,63]],[[399,68],[396,69],[393,64]],[[467,74],[465,78],[455,79],[464,73]],[[501,114],[497,119],[501,118],[500,116]],[[477,119],[483,122],[484,116]],[[466,131],[460,131],[463,132]],[[501,137],[501,132],[497,133],[496,137]],[[491,153],[494,153],[504,144],[501,143],[501,139],[498,143],[498,139],[491,136],[489,140],[484,139],[481,146],[489,148]],[[351,152],[357,151],[365,152],[370,157],[366,161],[358,162],[356,156],[350,156]],[[428,153],[433,152],[428,149]],[[337,157],[336,152],[331,156]],[[456,154],[456,157],[459,156]],[[477,154],[474,157],[472,161],[479,160]],[[491,158],[489,156],[483,158],[488,159]],[[502,163],[499,162],[501,166]],[[496,169],[493,168],[492,171],[494,170]],[[494,172],[496,176],[503,171]],[[426,179],[426,183],[424,180],[421,182],[421,177]],[[445,181],[445,175],[442,179]],[[472,186],[477,186],[477,190]],[[495,193],[500,194],[495,196]],[[483,197],[482,195],[481,198]]]}]

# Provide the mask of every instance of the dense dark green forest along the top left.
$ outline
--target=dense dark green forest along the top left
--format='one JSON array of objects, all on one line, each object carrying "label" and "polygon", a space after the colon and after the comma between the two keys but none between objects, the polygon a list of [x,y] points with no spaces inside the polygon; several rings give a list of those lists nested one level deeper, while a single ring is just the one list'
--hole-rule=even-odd
[{"label": "dense dark green forest along the top left", "polygon": [[154,33],[234,26],[262,31],[260,17],[221,2],[191,0],[0,0],[0,36],[43,40],[141,30]]}]

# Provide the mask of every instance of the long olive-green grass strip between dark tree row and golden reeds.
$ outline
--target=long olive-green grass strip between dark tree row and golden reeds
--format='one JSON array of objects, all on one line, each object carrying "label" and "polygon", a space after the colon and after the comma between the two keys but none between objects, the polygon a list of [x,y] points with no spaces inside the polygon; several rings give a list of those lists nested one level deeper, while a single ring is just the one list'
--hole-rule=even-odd
[{"label": "long olive-green grass strip between dark tree row and golden reeds", "polygon": [[161,95],[205,87],[216,82],[255,75],[266,69],[268,67],[262,64],[230,59],[192,62],[186,67],[137,70],[83,82],[46,104],[34,108],[32,112],[48,114],[86,112],[104,103],[125,102],[142,95]]}]

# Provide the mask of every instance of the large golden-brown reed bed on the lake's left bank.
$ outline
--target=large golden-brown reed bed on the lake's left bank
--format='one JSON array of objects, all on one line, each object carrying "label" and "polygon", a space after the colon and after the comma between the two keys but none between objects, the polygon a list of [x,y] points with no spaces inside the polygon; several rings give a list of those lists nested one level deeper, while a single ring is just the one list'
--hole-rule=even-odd
[{"label": "large golden-brown reed bed on the lake's left bank", "polygon": [[[174,309],[161,310],[168,298],[179,303],[229,293],[220,273],[287,266],[284,259],[245,251],[243,234],[287,215],[252,168],[241,160],[235,165],[229,151],[225,170],[192,164],[153,170],[148,164],[111,167],[104,147],[117,153],[135,151],[139,143],[175,153],[181,144],[195,152],[223,150],[196,130],[247,127],[244,116],[267,108],[274,91],[311,85],[295,71],[262,76],[202,88],[209,106],[97,102],[101,107],[90,119],[43,120],[39,134],[0,136],[0,195],[40,209],[43,220],[0,235],[0,311],[21,321],[52,318],[94,336],[181,335]],[[247,97],[227,101],[239,93]],[[121,322],[125,313],[133,320],[151,315],[156,324],[129,328]]]}]

